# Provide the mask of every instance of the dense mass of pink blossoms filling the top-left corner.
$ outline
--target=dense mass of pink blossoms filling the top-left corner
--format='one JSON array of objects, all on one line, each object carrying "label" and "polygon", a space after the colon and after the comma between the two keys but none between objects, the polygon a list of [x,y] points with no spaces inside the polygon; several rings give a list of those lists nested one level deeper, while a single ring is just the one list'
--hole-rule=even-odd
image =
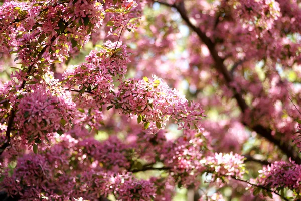
[{"label": "dense mass of pink blossoms filling the top-left corner", "polygon": [[[104,10],[94,0],[9,1],[1,6],[0,16],[0,42],[4,44],[0,52],[14,50],[23,64],[35,65],[61,62],[72,49],[82,48],[94,28],[102,24]],[[43,59],[38,56],[42,49]]]}]

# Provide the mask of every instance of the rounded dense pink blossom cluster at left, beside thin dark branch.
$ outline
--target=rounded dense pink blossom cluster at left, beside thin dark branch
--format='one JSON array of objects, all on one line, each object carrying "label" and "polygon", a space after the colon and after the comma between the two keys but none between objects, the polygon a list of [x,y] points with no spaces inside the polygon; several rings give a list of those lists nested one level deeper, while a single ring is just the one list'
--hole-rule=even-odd
[{"label": "rounded dense pink blossom cluster at left, beside thin dark branch", "polygon": [[22,96],[15,127],[25,144],[47,143],[55,132],[62,134],[70,128],[76,108],[64,91],[36,86]]}]

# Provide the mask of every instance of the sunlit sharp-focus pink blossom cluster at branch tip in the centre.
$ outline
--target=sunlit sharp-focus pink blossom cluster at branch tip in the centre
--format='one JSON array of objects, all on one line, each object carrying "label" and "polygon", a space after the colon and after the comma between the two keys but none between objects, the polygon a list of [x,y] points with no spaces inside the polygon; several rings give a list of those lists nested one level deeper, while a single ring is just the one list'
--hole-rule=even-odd
[{"label": "sunlit sharp-focus pink blossom cluster at branch tip in the centre", "polygon": [[119,86],[116,105],[124,114],[138,115],[138,122],[143,121],[144,128],[149,123],[164,128],[170,117],[181,128],[194,128],[204,116],[199,104],[188,102],[185,96],[156,76],[123,82]]}]

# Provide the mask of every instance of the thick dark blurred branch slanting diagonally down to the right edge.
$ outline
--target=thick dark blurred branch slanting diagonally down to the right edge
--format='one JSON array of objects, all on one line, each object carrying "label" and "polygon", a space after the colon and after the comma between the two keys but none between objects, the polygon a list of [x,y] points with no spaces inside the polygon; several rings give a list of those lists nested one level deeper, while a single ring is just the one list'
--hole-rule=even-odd
[{"label": "thick dark blurred branch slanting diagonally down to the right edge", "polygon": [[[231,83],[233,83],[234,80],[233,80],[232,75],[229,73],[226,66],[224,65],[224,60],[218,55],[218,52],[215,49],[215,44],[211,41],[211,39],[208,38],[201,29],[194,26],[192,24],[192,22],[189,20],[188,16],[186,15],[186,10],[185,10],[183,1],[180,4],[172,4],[172,5],[168,4],[168,3],[156,1],[156,0],[154,0],[154,1],[158,2],[162,5],[165,5],[165,6],[175,8],[179,12],[182,19],[185,21],[185,23],[190,27],[190,29],[192,29],[198,35],[200,40],[207,46],[207,48],[209,49],[210,54],[215,62],[214,67],[223,75],[228,88],[233,90],[234,98],[236,99],[240,110],[242,111],[242,113],[244,113],[248,109],[248,105],[246,104],[242,95],[240,93],[238,93],[238,91],[234,87],[231,86]],[[285,153],[288,157],[290,157],[296,163],[301,164],[301,158],[298,157],[295,150],[290,145],[282,143],[279,139],[274,138],[274,136],[272,135],[272,132],[269,128],[264,128],[263,126],[261,126],[259,124],[254,125],[254,126],[247,125],[244,122],[243,122],[243,124],[245,126],[249,127],[251,130],[256,131],[260,136],[266,138],[271,143],[278,146],[282,150],[283,153]]]}]

